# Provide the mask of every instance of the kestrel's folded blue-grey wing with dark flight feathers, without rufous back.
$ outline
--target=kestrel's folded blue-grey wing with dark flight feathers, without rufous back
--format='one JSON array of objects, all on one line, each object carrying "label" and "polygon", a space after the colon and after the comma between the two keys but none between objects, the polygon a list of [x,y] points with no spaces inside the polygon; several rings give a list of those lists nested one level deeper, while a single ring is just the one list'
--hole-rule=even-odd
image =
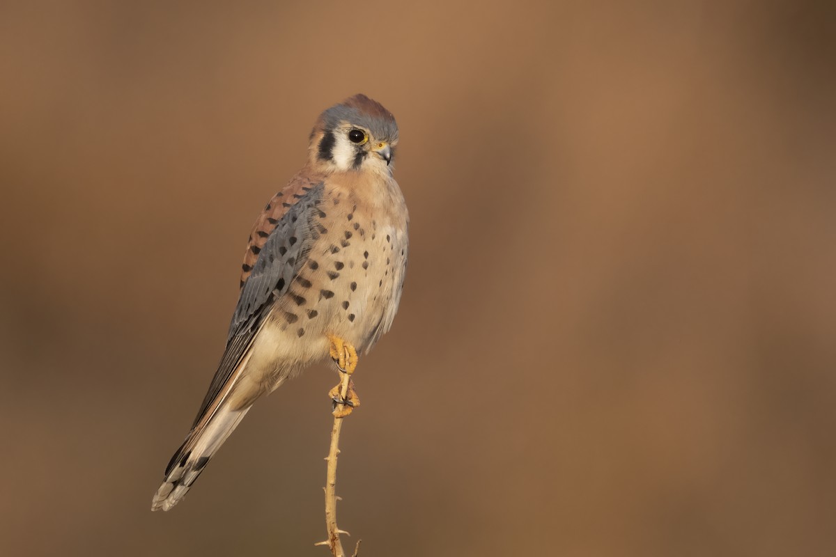
[{"label": "kestrel's folded blue-grey wing with dark flight feathers, without rufous back", "polygon": [[299,195],[298,201],[288,207],[258,252],[252,274],[242,286],[241,296],[229,324],[227,349],[223,352],[194,425],[200,422],[212,401],[224,392],[227,382],[252,345],[252,339],[273,306],[273,301],[288,290],[293,277],[307,261],[311,246],[319,238],[316,224],[322,214],[319,203],[324,190],[324,183],[320,182],[304,195]]}]

